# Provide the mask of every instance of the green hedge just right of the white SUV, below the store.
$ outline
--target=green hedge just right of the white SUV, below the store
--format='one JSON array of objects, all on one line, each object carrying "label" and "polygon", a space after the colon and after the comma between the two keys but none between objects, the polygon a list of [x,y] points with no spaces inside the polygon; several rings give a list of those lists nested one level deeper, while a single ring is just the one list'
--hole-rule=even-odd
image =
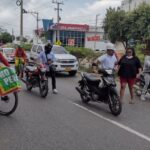
[{"label": "green hedge just right of the white SUV, below the store", "polygon": [[66,50],[71,53],[72,55],[75,55],[77,58],[97,58],[101,55],[100,52],[94,52],[91,49],[88,48],[83,48],[83,47],[72,47],[72,46],[67,46],[65,47]]}]

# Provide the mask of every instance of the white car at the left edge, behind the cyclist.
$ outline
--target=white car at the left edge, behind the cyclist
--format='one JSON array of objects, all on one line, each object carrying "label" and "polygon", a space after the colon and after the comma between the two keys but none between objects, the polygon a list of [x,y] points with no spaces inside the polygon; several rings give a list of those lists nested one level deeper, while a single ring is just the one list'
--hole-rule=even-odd
[{"label": "white car at the left edge, behind the cyclist", "polygon": [[8,60],[9,63],[15,62],[15,49],[10,47],[0,48],[0,52]]}]

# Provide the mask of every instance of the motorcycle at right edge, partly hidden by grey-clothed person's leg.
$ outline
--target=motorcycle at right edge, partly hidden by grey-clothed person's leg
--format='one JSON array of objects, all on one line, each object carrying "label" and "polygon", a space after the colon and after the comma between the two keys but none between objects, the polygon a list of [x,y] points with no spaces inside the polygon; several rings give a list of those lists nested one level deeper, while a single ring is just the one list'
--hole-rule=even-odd
[{"label": "motorcycle at right edge, partly hidden by grey-clothed person's leg", "polygon": [[[134,91],[137,96],[141,96],[144,85],[145,85],[144,74],[140,74],[140,76],[136,79],[135,85],[134,85]],[[150,84],[148,86],[146,93],[150,94]]]}]

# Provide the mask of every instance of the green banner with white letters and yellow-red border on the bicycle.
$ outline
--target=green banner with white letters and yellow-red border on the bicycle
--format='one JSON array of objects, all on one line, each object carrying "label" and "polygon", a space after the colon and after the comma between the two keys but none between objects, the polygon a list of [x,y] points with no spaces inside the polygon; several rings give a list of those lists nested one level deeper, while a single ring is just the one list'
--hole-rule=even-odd
[{"label": "green banner with white letters and yellow-red border on the bicycle", "polygon": [[21,84],[15,69],[8,67],[0,68],[0,96],[7,95],[21,89]]}]

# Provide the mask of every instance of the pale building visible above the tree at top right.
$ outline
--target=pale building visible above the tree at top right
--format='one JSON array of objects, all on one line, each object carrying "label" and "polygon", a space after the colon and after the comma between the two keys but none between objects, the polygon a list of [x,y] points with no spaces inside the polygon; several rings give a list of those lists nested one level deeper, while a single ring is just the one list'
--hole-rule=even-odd
[{"label": "pale building visible above the tree at top right", "polygon": [[132,11],[143,2],[150,4],[150,0],[123,0],[121,3],[121,9],[125,11]]}]

